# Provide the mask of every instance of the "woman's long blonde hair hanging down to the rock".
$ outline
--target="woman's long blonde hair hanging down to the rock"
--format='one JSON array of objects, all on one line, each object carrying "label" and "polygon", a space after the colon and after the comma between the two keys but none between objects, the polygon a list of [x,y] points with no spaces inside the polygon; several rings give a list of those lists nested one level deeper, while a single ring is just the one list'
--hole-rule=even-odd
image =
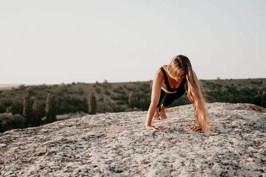
[{"label": "woman's long blonde hair hanging down to the rock", "polygon": [[185,71],[187,97],[193,104],[196,124],[200,125],[202,127],[202,131],[209,135],[210,116],[206,109],[206,101],[202,94],[198,77],[192,69],[191,62],[186,56],[178,55],[172,59],[170,65],[167,65],[166,69],[173,78],[178,77],[181,70]]}]

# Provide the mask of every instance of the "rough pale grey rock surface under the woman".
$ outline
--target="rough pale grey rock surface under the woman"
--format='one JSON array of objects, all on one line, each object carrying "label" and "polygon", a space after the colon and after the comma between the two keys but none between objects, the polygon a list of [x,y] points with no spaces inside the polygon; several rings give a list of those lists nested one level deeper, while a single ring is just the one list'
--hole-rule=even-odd
[{"label": "rough pale grey rock surface under the woman", "polygon": [[88,115],[0,134],[0,176],[266,176],[266,109],[208,104],[211,135],[191,131],[192,105],[146,130],[146,111]]}]

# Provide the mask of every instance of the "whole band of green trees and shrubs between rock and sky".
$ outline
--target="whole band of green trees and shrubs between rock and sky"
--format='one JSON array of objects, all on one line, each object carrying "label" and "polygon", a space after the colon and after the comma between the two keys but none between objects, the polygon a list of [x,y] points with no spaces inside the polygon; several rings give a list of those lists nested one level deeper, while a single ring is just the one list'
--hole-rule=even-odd
[{"label": "whole band of green trees and shrubs between rock and sky", "polygon": [[[56,115],[77,111],[92,113],[147,110],[151,81],[24,84],[0,90],[0,132],[55,121]],[[201,80],[207,102],[252,103],[266,107],[266,79]],[[1,89],[1,88],[0,88]],[[94,103],[88,103],[93,93]],[[171,106],[191,104],[186,94]]]}]

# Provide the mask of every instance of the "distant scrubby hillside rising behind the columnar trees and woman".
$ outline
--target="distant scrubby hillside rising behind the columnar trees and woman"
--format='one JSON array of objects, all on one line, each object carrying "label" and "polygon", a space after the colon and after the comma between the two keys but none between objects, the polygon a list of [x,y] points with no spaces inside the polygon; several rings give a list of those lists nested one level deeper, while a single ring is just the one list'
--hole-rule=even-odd
[{"label": "distant scrubby hillside rising behind the columnar trees and woman", "polygon": [[[91,92],[96,96],[97,112],[121,112],[131,110],[147,110],[150,103],[149,81],[137,82],[96,82],[69,83],[54,85],[19,85],[2,89],[0,87],[0,112],[11,106],[13,112],[22,113],[24,94],[28,92],[32,101],[39,100],[45,107],[48,93],[57,98],[58,114],[73,111],[88,112],[88,97]],[[266,92],[266,78],[257,79],[216,79],[200,80],[207,95],[208,102],[252,103],[263,105],[263,92]],[[132,98],[129,104],[129,95]],[[171,106],[190,104],[184,94]]]}]

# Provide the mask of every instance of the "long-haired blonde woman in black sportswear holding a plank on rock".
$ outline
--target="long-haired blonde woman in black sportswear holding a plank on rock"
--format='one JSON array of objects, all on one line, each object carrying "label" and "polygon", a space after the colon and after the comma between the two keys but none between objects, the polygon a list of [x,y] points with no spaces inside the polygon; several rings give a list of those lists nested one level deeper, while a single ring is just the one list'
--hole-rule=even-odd
[{"label": "long-haired blonde woman in black sportswear holding a plank on rock", "polygon": [[[202,130],[209,135],[209,114],[205,107],[198,78],[186,56],[175,56],[169,65],[162,66],[151,83],[151,102],[146,116],[147,129],[164,129],[151,125],[152,119],[165,119],[165,109],[187,91],[187,97],[194,106],[196,125],[189,129]],[[159,113],[159,106],[164,99]]]}]

